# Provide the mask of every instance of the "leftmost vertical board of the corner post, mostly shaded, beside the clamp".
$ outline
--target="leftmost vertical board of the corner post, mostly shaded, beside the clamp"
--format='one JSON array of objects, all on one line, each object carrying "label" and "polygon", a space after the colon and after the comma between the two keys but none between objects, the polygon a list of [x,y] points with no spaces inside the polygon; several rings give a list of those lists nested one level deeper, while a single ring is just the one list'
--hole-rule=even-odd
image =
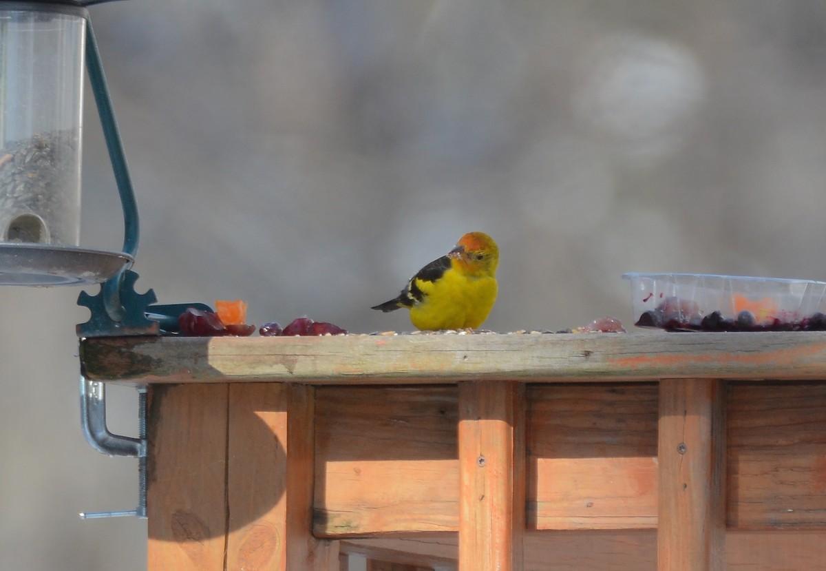
[{"label": "leftmost vertical board of the corner post, mostly shaded, beside the clamp", "polygon": [[150,388],[151,571],[224,569],[228,390],[226,384]]}]

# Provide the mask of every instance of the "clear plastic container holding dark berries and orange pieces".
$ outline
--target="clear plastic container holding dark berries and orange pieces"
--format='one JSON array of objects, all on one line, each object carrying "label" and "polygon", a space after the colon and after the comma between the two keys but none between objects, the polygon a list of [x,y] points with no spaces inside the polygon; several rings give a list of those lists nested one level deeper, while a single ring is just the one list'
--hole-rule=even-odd
[{"label": "clear plastic container holding dark berries and orange pieces", "polygon": [[634,325],[669,331],[824,331],[826,283],[715,274],[624,274]]}]

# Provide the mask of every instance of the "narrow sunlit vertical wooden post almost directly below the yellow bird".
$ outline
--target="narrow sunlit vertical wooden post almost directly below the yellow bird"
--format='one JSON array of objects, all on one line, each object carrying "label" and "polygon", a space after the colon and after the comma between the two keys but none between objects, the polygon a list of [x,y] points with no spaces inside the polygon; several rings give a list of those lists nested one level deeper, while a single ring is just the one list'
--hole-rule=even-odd
[{"label": "narrow sunlit vertical wooden post almost directly below the yellow bird", "polygon": [[459,383],[459,569],[522,571],[525,385]]}]

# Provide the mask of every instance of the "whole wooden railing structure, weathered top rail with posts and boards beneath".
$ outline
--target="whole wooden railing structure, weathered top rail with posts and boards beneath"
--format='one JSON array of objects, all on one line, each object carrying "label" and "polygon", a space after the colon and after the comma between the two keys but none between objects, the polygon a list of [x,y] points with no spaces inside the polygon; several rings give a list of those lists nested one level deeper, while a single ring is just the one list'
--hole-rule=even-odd
[{"label": "whole wooden railing structure, weathered top rail with posts and boards beneath", "polygon": [[826,569],[826,333],[82,340],[150,569]]}]

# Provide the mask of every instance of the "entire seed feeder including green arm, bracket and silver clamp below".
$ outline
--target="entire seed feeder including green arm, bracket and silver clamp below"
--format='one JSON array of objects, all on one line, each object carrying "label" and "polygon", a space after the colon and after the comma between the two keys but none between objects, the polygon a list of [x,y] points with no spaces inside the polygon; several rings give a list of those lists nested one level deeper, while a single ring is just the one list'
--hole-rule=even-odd
[{"label": "entire seed feeder including green arm, bracket and silver clamp below", "polygon": [[[91,312],[78,336],[159,335],[182,307],[198,304],[150,307],[154,292],[134,290],[135,195],[86,9],[102,1],[0,0],[0,285],[100,283],[97,295],[78,297]],[[119,251],[80,244],[84,69],[121,197]],[[131,438],[108,431],[104,383],[81,378],[80,400],[89,444],[104,454],[137,457],[140,475],[135,510],[83,516],[145,516],[145,433]],[[139,388],[140,419],[145,410],[145,390]]]}]

